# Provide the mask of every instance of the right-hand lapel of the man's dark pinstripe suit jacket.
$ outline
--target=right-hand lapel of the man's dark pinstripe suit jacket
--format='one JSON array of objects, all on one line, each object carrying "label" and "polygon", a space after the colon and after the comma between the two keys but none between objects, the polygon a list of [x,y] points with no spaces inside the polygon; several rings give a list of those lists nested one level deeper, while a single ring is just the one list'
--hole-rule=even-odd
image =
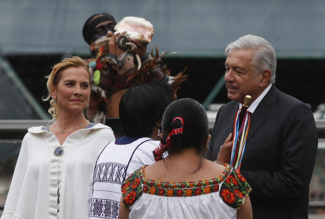
[{"label": "right-hand lapel of the man's dark pinstripe suit jacket", "polygon": [[251,116],[250,126],[248,130],[247,141],[249,141],[255,132],[265,122],[266,118],[272,113],[272,105],[275,103],[279,90],[272,85],[271,89],[266,93],[265,97],[258,104]]}]

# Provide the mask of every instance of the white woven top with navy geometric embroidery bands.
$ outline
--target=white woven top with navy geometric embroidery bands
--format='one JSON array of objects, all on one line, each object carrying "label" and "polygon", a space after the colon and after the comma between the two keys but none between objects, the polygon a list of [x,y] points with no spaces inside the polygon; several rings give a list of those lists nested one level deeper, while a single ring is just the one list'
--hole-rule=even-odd
[{"label": "white woven top with navy geometric embroidery bands", "polygon": [[118,140],[98,153],[89,185],[89,219],[118,218],[123,181],[142,165],[154,163],[152,152],[160,143],[148,137],[124,143]]}]

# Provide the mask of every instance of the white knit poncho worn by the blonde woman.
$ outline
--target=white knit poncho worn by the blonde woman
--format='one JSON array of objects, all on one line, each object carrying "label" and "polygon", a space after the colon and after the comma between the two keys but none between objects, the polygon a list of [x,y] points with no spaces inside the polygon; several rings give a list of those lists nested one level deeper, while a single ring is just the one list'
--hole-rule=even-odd
[{"label": "white knit poncho worn by the blonde woman", "polygon": [[59,141],[42,128],[29,128],[22,141],[1,219],[86,219],[93,164],[98,151],[115,139],[113,131],[102,124],[77,130],[56,156]]}]

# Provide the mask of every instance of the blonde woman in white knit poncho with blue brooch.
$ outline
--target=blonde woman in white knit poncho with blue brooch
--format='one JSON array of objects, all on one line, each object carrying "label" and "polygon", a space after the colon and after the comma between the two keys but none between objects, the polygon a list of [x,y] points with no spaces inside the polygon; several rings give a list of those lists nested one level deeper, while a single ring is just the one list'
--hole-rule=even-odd
[{"label": "blonde woman in white knit poncho with blue brooch", "polygon": [[90,123],[87,64],[64,59],[48,76],[54,123],[25,135],[1,219],[88,218],[87,191],[98,151],[115,140],[110,127]]}]

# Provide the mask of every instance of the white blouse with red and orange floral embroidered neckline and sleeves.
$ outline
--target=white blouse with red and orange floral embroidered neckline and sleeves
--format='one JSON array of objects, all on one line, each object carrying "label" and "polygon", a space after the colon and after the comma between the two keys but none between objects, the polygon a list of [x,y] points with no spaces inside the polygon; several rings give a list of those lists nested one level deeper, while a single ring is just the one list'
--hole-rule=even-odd
[{"label": "white blouse with red and orange floral embroidered neckline and sleeves", "polygon": [[227,165],[221,176],[196,182],[160,182],[143,176],[145,166],[122,185],[129,218],[235,219],[251,191],[240,173]]}]

